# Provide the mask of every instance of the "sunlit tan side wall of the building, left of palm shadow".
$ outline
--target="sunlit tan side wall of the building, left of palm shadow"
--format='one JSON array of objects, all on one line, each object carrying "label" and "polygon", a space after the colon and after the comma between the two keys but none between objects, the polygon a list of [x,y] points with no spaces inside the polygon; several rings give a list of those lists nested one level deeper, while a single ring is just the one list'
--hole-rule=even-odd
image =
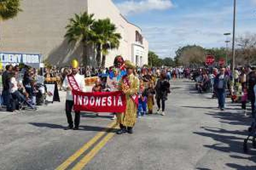
[{"label": "sunlit tan side wall of the building, left of palm shadow", "polygon": [[46,58],[63,45],[68,19],[85,12],[87,1],[22,0],[21,8],[17,17],[3,22],[1,51],[41,53]]}]

